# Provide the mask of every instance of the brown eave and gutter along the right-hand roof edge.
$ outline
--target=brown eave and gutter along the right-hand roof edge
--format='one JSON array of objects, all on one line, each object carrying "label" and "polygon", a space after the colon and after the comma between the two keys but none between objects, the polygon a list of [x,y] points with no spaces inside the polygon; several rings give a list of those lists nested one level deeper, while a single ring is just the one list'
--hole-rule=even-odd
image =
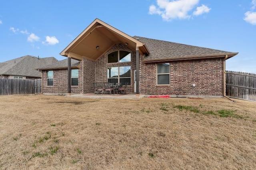
[{"label": "brown eave and gutter along the right-hand roof edge", "polygon": [[227,59],[234,57],[238,53],[221,53],[221,54],[213,54],[213,55],[197,55],[197,56],[184,56],[184,57],[172,57],[172,58],[164,58],[164,59],[149,59],[144,60],[144,63],[156,63],[156,62],[167,62],[167,61],[180,61],[180,60],[194,60],[194,59],[210,59],[210,58],[225,58]]}]

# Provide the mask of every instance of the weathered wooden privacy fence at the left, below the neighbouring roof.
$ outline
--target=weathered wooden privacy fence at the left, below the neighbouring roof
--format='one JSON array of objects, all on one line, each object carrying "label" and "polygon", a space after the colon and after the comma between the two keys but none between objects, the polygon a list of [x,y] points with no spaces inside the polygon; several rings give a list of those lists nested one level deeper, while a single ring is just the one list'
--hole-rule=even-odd
[{"label": "weathered wooden privacy fence at the left, below the neighbouring roof", "polygon": [[0,78],[0,95],[37,94],[41,92],[42,80]]}]

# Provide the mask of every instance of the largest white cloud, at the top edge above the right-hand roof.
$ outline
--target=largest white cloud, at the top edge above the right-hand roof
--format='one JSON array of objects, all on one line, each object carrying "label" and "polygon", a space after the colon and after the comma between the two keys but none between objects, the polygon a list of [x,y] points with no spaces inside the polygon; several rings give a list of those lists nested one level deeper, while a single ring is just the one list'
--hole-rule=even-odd
[{"label": "largest white cloud, at the top edge above the right-hand roof", "polygon": [[[149,14],[158,14],[164,20],[172,19],[189,19],[190,14],[199,3],[199,0],[157,0],[157,7],[151,5],[149,7]],[[208,13],[210,8],[202,5],[197,8],[194,15]]]}]

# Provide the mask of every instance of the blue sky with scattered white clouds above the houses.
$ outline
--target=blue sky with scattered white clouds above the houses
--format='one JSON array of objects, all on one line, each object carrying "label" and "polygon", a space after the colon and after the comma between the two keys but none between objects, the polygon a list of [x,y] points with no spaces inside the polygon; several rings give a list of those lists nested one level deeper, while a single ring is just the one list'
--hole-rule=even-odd
[{"label": "blue sky with scattered white clouds above the houses", "polygon": [[59,53],[95,18],[128,35],[239,52],[226,70],[256,73],[256,0],[2,0],[0,62]]}]

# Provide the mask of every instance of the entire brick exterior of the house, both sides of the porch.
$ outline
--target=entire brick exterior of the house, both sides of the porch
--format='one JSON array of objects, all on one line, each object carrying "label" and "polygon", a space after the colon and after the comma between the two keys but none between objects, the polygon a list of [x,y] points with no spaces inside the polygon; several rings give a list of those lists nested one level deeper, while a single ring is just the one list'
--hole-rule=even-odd
[{"label": "entire brick exterior of the house, both sides of the porch", "polygon": [[[107,63],[107,55],[117,50],[131,52],[131,62]],[[170,85],[157,85],[157,63],[143,63],[140,55],[140,94],[169,95],[223,95],[223,59],[204,59],[170,62]],[[136,51],[122,44],[115,44],[96,61],[83,59],[80,62],[78,86],[71,86],[72,93],[93,93],[93,82],[107,82],[107,68],[131,66],[131,85],[127,91],[133,92],[133,72],[136,70]],[[67,69],[53,71],[53,86],[47,86],[47,72],[43,71],[43,93],[67,93]],[[195,87],[191,85],[195,84]]]}]

